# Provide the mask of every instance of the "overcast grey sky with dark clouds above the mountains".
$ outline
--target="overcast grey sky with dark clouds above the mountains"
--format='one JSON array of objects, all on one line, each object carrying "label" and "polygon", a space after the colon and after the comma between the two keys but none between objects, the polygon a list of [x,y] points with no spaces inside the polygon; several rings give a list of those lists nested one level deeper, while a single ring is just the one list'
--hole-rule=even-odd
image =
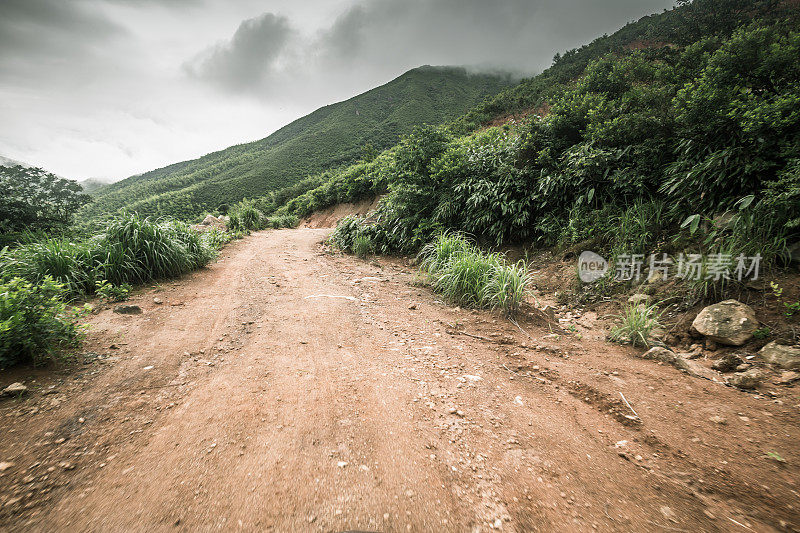
[{"label": "overcast grey sky with dark clouds above the mountains", "polygon": [[532,74],[672,0],[0,0],[0,155],[121,179],[424,64]]}]

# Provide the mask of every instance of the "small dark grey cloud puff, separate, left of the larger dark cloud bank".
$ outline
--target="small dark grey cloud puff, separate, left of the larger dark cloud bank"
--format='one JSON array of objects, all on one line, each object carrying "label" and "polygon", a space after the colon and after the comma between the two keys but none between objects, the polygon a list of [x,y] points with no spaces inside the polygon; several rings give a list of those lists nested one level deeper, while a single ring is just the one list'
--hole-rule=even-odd
[{"label": "small dark grey cloud puff, separate, left of the larger dark cloud bank", "polygon": [[202,52],[184,68],[193,77],[235,91],[259,88],[294,35],[286,17],[264,13],[242,22],[229,42]]}]

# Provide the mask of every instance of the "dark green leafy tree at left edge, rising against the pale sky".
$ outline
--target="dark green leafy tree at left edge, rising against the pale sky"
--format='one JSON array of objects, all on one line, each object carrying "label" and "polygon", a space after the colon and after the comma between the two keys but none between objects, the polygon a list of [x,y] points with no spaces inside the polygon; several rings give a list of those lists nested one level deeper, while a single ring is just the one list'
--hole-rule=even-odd
[{"label": "dark green leafy tree at left edge, rising against the pale sky", "polygon": [[74,181],[40,168],[0,166],[0,233],[60,229],[90,198]]}]

